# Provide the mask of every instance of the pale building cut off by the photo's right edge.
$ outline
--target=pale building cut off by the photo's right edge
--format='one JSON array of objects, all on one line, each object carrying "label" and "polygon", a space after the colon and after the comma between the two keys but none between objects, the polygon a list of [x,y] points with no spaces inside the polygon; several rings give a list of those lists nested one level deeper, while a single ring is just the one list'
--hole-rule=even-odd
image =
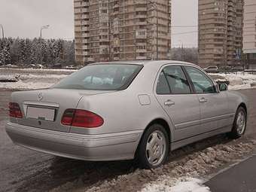
[{"label": "pale building cut off by the photo's right edge", "polygon": [[256,69],[256,0],[245,0],[243,53],[249,67]]}]

